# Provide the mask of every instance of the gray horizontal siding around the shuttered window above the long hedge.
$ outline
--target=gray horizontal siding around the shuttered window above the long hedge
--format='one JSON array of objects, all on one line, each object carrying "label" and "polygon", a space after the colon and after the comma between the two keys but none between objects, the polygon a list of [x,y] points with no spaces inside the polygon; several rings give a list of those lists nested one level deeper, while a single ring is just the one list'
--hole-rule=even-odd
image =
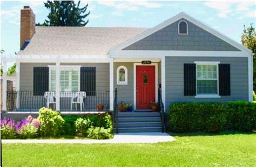
[{"label": "gray horizontal siding around the shuttered window above the long hedge", "polygon": [[[228,57],[166,57],[166,105],[181,101],[234,101],[248,100],[248,59]],[[184,64],[194,61],[220,61],[230,64],[231,96],[221,98],[194,98],[184,96]]]}]

